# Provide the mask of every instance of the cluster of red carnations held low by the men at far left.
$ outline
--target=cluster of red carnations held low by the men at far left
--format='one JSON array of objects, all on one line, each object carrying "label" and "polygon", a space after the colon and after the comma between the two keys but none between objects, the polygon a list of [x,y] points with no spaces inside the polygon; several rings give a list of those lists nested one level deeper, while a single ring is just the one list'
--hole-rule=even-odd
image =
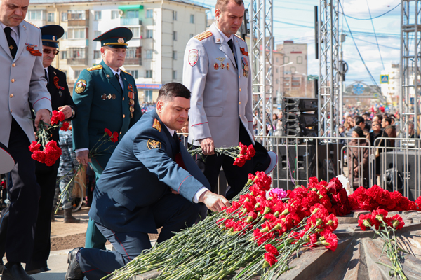
[{"label": "cluster of red carnations held low by the men at far left", "polygon": [[60,127],[60,130],[68,129],[69,123],[67,122],[60,125],[60,122],[63,120],[65,120],[65,114],[54,110],[51,116],[51,126],[48,126],[42,120],[39,122],[39,130],[36,132],[37,141],[32,141],[31,145],[29,145],[29,151],[31,151],[31,157],[34,160],[45,163],[47,166],[52,166],[60,158],[62,151],[58,147],[57,142],[48,139],[51,130],[55,127]]}]

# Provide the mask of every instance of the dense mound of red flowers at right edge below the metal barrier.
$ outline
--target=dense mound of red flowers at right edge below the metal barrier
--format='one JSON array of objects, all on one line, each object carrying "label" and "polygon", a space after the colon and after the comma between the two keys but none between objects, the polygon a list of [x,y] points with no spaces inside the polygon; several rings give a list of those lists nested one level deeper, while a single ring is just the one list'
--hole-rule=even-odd
[{"label": "dense mound of red flowers at right edge below the metal barrier", "polygon": [[377,185],[367,189],[359,187],[348,198],[353,210],[363,209],[367,211],[376,209],[387,211],[418,210],[417,204],[420,205],[421,202],[421,197],[413,202],[396,190],[389,192]]}]

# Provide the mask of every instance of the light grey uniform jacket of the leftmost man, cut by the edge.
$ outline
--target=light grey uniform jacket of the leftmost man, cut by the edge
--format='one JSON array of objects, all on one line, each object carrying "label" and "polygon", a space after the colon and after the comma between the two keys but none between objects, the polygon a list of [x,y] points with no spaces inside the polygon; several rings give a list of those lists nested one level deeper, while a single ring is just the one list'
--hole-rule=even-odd
[{"label": "light grey uniform jacket of the leftmost man, cut by the edge", "polygon": [[6,146],[12,117],[27,134],[29,141],[35,141],[29,102],[35,111],[51,111],[51,97],[42,66],[41,31],[25,21],[18,28],[19,42],[16,42],[18,51],[15,59],[12,59],[4,31],[0,30],[0,142]]}]

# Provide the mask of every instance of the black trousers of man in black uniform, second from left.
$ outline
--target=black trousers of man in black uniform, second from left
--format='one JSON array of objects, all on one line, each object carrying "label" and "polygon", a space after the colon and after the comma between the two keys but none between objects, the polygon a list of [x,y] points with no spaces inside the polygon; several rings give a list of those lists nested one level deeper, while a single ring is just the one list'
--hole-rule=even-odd
[{"label": "black trousers of man in black uniform, second from left", "polygon": [[31,261],[26,264],[26,270],[47,267],[47,260],[50,256],[51,242],[51,211],[55,195],[55,181],[57,180],[57,167],[47,167],[44,165],[43,171],[39,171],[36,162],[36,181],[41,186],[41,197],[38,204],[38,218],[36,219],[34,252]]}]

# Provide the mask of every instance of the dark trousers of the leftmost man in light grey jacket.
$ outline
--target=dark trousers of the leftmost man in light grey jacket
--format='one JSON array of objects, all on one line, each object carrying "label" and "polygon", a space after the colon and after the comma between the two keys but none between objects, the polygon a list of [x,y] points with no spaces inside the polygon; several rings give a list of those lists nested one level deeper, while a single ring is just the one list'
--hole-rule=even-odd
[{"label": "dark trousers of the leftmost man in light grey jacket", "polygon": [[[0,237],[6,236],[4,249],[8,262],[29,262],[34,248],[40,188],[36,183],[35,161],[31,158],[29,144],[27,135],[13,118],[8,143],[8,151],[15,160],[13,186],[8,187],[11,204],[2,211],[4,216],[0,225]],[[8,223],[4,223],[7,219]]]}]

